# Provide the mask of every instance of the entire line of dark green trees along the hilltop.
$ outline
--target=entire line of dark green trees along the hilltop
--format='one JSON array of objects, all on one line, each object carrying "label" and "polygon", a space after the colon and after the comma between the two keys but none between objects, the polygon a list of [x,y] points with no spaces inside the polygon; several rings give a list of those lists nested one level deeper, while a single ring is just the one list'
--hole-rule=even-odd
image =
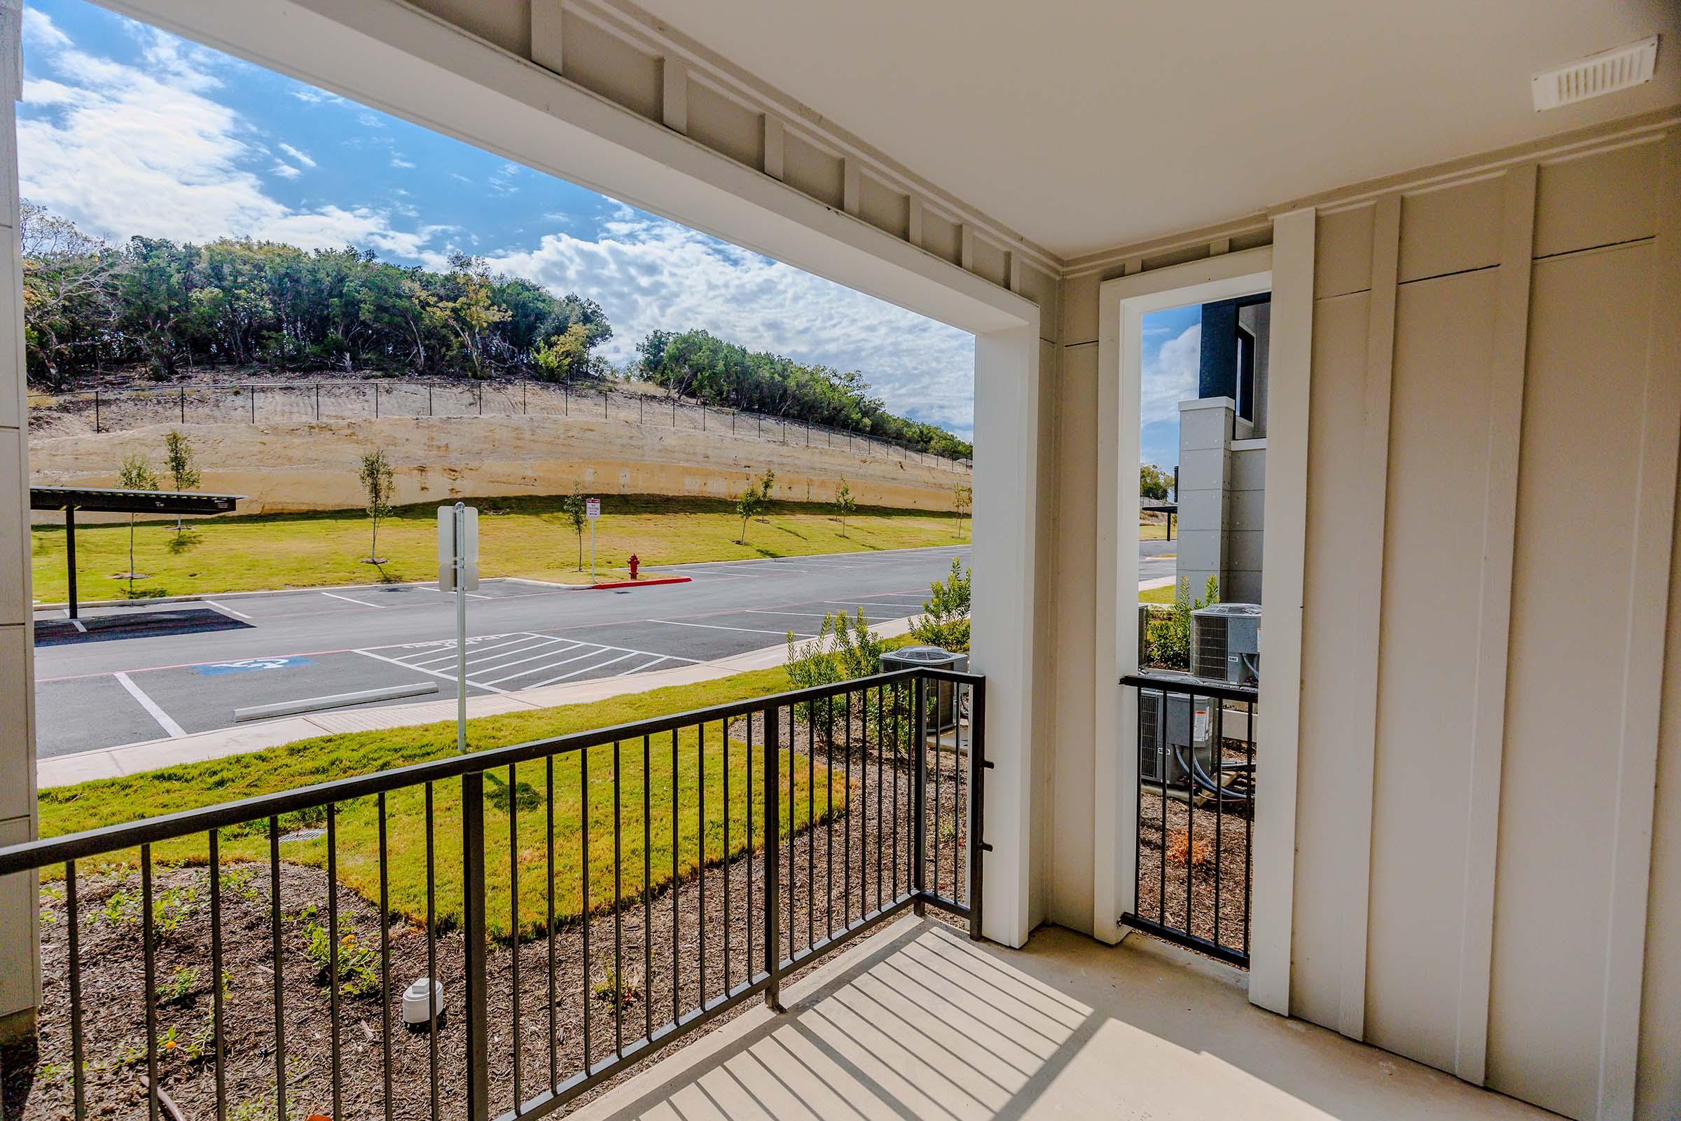
[{"label": "entire line of dark green trees along the hilltop", "polygon": [[355,247],[303,250],[219,239],[131,237],[111,245],[24,202],[29,376],[64,392],[89,373],[183,370],[533,376],[640,376],[674,397],[872,435],[968,459],[973,447],[889,413],[859,371],[750,351],[706,331],[652,331],[615,371],[598,355],[612,324],[593,299],[553,296],[456,254],[442,271]]}]

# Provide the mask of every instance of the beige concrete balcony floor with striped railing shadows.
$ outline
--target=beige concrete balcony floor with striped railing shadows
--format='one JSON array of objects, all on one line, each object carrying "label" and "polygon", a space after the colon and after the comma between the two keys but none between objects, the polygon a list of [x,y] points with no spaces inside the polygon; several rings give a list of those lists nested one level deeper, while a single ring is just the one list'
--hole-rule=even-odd
[{"label": "beige concrete balcony floor with striped railing shadows", "polygon": [[592,1101],[590,1121],[1530,1119],[1555,1114],[1249,1005],[1143,936],[1025,950],[904,918]]}]

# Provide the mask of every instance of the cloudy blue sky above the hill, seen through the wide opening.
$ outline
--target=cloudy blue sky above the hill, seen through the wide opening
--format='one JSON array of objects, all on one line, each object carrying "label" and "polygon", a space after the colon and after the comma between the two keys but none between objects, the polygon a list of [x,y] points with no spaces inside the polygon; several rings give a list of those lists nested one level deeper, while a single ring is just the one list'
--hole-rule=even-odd
[{"label": "cloudy blue sky above the hill, seen through the wide opening", "polygon": [[624,363],[652,329],[861,370],[889,410],[973,434],[975,339],[595,192],[84,0],[24,8],[24,197],[113,242],[346,244],[595,299]]}]

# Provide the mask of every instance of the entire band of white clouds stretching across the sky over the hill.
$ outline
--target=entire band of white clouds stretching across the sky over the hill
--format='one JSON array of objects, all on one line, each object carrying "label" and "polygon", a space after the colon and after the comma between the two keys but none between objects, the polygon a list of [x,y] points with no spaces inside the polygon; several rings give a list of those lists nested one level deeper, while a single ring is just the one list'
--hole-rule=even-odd
[{"label": "entire band of white clouds stretching across the sky over the hill", "polygon": [[[316,161],[287,143],[277,145],[287,158],[277,158],[252,121],[212,97],[224,72],[232,74],[230,62],[134,24],[145,64],[126,66],[79,50],[49,17],[25,13],[35,54],[18,119],[22,188],[89,234],[193,242],[254,237],[304,249],[350,244],[432,269],[445,267],[457,244],[476,244],[472,232],[422,224],[400,198],[390,207],[279,202],[267,193],[267,176],[294,180]],[[338,101],[306,92],[298,96],[308,104]],[[383,145],[393,166],[414,166],[392,134],[380,131],[380,118],[361,113],[358,119],[368,131],[346,143]],[[486,187],[508,197],[528,175],[504,163]],[[493,267],[597,299],[614,323],[609,356],[615,361],[632,358],[651,329],[701,328],[753,350],[862,370],[893,412],[965,435],[972,430],[975,346],[968,334],[612,205],[617,210],[593,240],[548,234],[535,247],[493,254]],[[577,215],[553,222],[588,230],[588,220]]]}]

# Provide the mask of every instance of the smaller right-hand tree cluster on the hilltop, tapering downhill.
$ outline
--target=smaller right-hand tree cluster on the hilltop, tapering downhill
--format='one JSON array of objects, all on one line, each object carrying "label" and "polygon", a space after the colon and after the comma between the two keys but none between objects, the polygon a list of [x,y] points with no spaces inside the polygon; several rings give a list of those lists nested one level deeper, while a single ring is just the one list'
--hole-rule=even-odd
[{"label": "smaller right-hand tree cluster on the hilltop, tapering downhill", "polygon": [[946,459],[973,445],[945,429],[889,413],[864,375],[750,351],[708,331],[651,331],[637,345],[640,373],[667,393],[908,444]]}]

